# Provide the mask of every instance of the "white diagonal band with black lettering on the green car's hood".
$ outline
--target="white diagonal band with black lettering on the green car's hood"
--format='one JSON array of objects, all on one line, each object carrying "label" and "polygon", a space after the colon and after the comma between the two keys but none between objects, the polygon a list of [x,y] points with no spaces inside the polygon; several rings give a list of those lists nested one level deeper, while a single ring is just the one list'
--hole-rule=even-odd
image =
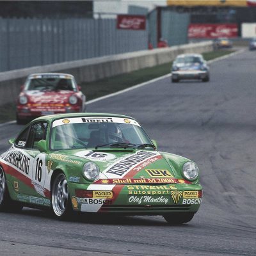
[{"label": "white diagonal band with black lettering on the green car's hood", "polygon": [[148,157],[153,157],[157,155],[158,153],[155,153],[155,152],[139,151],[137,152],[136,155],[126,157],[125,159],[122,159],[120,162],[111,166],[111,168],[109,168],[107,173],[112,173],[118,176],[122,176],[132,167],[145,161]]}]

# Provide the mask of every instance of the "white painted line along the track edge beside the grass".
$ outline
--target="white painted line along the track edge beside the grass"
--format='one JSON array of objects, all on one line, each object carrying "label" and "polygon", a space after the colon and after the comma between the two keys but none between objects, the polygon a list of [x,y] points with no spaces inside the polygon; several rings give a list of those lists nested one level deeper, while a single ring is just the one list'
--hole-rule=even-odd
[{"label": "white painted line along the track edge beside the grass", "polygon": [[[225,55],[225,56],[221,56],[221,57],[219,57],[219,58],[215,58],[214,60],[207,61],[207,63],[208,63],[208,64],[211,64],[211,63],[214,62],[214,61],[225,60],[225,59],[227,59],[227,58],[229,58],[229,57],[231,57],[231,56],[234,56],[234,55],[239,54],[239,53],[244,52],[244,51],[245,51],[245,49],[241,49],[241,50],[239,50],[239,51],[237,51],[237,52],[232,52],[232,53],[227,54],[227,55]],[[136,89],[136,88],[140,88],[140,87],[145,86],[145,85],[147,85],[147,84],[154,83],[154,82],[156,82],[156,81],[159,81],[159,80],[161,80],[161,79],[164,79],[164,78],[166,78],[166,77],[171,77],[171,76],[172,76],[172,74],[167,74],[167,75],[164,75],[164,76],[160,76],[160,77],[151,79],[151,80],[149,80],[149,81],[147,81],[147,82],[144,82],[144,83],[141,83],[141,84],[136,84],[136,85],[131,86],[131,87],[129,87],[129,88],[126,88],[126,89],[124,89],[124,90],[120,90],[120,91],[118,91],[118,92],[110,93],[110,94],[108,94],[108,95],[105,95],[105,96],[102,96],[102,97],[99,97],[99,98],[96,98],[96,99],[93,99],[93,100],[88,100],[88,101],[86,102],[86,105],[92,104],[92,103],[97,102],[97,101],[99,101],[99,100],[108,99],[108,98],[110,98],[110,97],[116,96],[116,95],[121,94],[121,93],[129,92],[129,91],[134,90],[134,89]],[[8,124],[14,124],[15,122],[16,122],[16,121],[13,120],[13,121],[10,121],[10,122],[3,123],[3,124],[0,124],[0,127],[3,127],[4,125],[8,125]]]}]

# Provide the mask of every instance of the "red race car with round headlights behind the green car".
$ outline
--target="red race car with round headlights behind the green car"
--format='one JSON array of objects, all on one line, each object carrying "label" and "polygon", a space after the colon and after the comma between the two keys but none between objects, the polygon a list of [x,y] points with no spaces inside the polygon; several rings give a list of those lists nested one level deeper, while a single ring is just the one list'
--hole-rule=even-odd
[{"label": "red race car with round headlights behind the green car", "polygon": [[32,74],[17,99],[17,124],[38,116],[85,111],[86,97],[74,76],[60,73]]}]

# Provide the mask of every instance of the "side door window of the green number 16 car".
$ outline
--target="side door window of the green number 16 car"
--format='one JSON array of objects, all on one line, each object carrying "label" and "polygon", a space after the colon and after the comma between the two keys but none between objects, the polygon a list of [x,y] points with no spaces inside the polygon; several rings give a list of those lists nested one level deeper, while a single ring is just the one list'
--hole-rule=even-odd
[{"label": "side door window of the green number 16 car", "polygon": [[27,148],[38,148],[37,144],[40,140],[45,140],[47,132],[47,123],[40,122],[31,125],[28,136]]}]

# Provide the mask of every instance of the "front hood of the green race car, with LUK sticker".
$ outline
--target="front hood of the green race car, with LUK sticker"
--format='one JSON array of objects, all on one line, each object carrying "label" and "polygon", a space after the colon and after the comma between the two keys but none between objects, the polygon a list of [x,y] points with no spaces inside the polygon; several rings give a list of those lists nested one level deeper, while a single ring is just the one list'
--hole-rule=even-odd
[{"label": "front hood of the green race car, with LUK sticker", "polygon": [[[56,158],[51,155],[50,158]],[[57,158],[61,159],[58,156]],[[122,183],[123,179],[182,179],[180,166],[188,161],[184,157],[163,154],[155,150],[119,148],[102,151],[65,150],[65,158],[71,162],[79,161],[82,165],[88,161],[96,163],[100,168],[97,183],[108,183],[109,180]],[[157,180],[152,180],[152,182],[157,182]]]}]

